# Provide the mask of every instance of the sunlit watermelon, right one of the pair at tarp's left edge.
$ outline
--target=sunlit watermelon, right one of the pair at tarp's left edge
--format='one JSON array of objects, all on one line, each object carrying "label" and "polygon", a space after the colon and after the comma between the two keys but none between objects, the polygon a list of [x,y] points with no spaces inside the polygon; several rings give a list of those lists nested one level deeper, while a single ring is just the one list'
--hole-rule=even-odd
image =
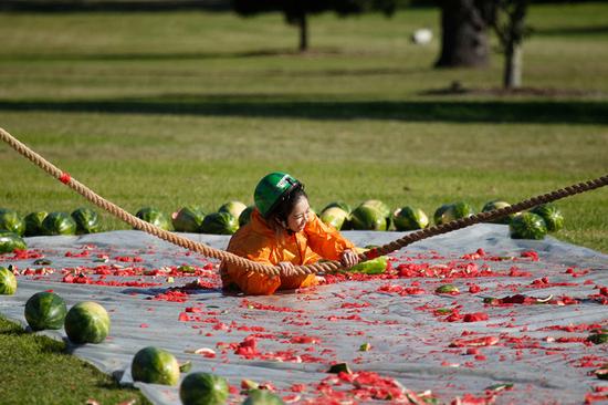
[{"label": "sunlit watermelon, right one of the pair at tarp's left edge", "polygon": [[78,302],[67,311],[64,326],[73,343],[101,343],[109,333],[109,315],[96,302]]}]

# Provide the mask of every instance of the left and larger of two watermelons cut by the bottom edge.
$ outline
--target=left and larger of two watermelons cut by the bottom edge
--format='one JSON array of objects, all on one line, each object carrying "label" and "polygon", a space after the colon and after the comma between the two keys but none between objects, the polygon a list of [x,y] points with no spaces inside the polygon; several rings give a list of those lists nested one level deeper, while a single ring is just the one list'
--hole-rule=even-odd
[{"label": "left and larger of two watermelons cut by the bottom edge", "polygon": [[190,373],[179,386],[184,405],[223,405],[228,399],[228,382],[209,373]]}]

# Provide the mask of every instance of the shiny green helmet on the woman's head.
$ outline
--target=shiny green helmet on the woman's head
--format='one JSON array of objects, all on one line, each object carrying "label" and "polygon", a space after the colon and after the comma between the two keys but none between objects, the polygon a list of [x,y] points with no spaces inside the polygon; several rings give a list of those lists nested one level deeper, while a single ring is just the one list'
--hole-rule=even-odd
[{"label": "shiny green helmet on the woman's head", "polygon": [[289,174],[281,172],[268,174],[262,177],[255,187],[253,194],[255,208],[260,210],[263,217],[268,218],[279,204],[296,188],[302,188],[302,183]]}]

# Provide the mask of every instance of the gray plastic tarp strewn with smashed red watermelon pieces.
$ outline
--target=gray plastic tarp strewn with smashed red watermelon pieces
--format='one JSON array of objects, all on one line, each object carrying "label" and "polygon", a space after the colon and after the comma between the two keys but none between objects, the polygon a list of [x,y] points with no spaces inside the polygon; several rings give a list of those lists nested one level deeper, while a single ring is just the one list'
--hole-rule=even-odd
[{"label": "gray plastic tarp strewn with smashed red watermelon pieces", "polygon": [[[344,235],[366,246],[403,233]],[[187,236],[220,249],[229,239]],[[134,354],[154,345],[191,361],[192,372],[228,378],[234,403],[243,378],[321,404],[386,401],[381,388],[400,386],[431,391],[440,403],[496,404],[581,404],[608,390],[591,374],[608,350],[586,341],[608,326],[608,257],[551,237],[514,240],[506,226],[478,225],[390,255],[388,274],[328,276],[328,284],[271,297],[222,294],[217,261],[139,231],[27,242],[27,255],[0,256],[0,266],[20,272],[0,313],[25,325],[25,301],[50,289],[69,307],[101,303],[108,339],[69,350],[124,384],[133,383]],[[51,264],[34,264],[41,257]],[[196,273],[177,271],[182,264]],[[460,293],[436,293],[445,283]],[[490,297],[506,300],[484,303]],[[42,333],[65,339],[63,330]],[[355,374],[327,373],[340,362]],[[513,387],[486,390],[495,384]],[[135,385],[155,404],[179,404],[178,387]]]}]

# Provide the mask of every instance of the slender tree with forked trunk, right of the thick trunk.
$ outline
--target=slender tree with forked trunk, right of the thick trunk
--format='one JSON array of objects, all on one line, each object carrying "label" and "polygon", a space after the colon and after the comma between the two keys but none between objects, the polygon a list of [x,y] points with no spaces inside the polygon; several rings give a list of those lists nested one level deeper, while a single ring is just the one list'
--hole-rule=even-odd
[{"label": "slender tree with forked trunk, right of the thick trunk", "polygon": [[522,86],[523,40],[527,33],[527,0],[492,0],[490,25],[496,32],[504,53],[503,86]]}]

